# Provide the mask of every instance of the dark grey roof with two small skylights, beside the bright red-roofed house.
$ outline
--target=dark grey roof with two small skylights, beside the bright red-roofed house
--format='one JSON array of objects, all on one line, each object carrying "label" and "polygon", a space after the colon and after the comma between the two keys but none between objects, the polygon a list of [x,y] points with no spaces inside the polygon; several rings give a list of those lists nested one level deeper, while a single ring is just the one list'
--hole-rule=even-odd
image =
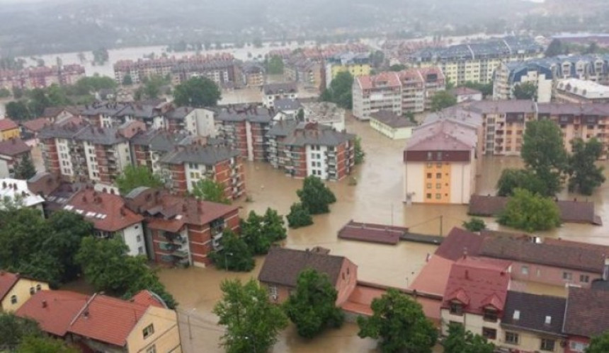
[{"label": "dark grey roof with two small skylights, beside the bright red-roofed house", "polygon": [[[561,335],[566,303],[567,299],[557,296],[508,291],[501,325]],[[514,318],[515,311],[518,311],[518,319]],[[550,324],[546,324],[547,316]]]}]

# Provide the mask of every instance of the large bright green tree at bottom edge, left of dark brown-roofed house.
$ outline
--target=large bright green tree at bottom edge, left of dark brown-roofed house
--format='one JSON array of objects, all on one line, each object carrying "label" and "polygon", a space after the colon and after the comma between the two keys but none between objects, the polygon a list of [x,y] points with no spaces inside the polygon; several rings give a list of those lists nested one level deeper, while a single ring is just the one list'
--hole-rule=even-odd
[{"label": "large bright green tree at bottom edge, left of dark brown-roofed house", "polygon": [[227,353],[268,352],[288,325],[281,308],[268,300],[266,290],[254,279],[246,284],[227,280],[220,289],[222,300],[213,309],[218,324],[226,327],[220,345]]}]

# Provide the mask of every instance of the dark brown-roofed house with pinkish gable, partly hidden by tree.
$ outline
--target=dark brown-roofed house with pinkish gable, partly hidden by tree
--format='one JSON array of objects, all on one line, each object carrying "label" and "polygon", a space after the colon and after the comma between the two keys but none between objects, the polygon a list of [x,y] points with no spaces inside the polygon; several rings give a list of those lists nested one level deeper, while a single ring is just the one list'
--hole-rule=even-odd
[{"label": "dark brown-roofed house with pinkish gable, partly hidden by tree", "polygon": [[266,287],[273,303],[283,303],[296,289],[298,274],[312,268],[326,274],[338,292],[336,306],[347,301],[358,282],[358,267],[343,256],[330,255],[329,250],[292,250],[273,247],[268,251],[258,281]]}]

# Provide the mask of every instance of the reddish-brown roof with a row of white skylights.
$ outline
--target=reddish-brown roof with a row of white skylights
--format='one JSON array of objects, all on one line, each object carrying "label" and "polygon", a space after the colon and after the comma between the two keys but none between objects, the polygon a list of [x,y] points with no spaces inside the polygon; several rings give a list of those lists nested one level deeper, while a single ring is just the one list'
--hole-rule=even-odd
[{"label": "reddish-brown roof with a row of white skylights", "polygon": [[[132,224],[140,223],[144,217],[125,207],[123,198],[108,192],[84,189],[76,192],[64,209],[78,212],[101,231],[120,231]],[[82,212],[79,212],[82,211]]]}]

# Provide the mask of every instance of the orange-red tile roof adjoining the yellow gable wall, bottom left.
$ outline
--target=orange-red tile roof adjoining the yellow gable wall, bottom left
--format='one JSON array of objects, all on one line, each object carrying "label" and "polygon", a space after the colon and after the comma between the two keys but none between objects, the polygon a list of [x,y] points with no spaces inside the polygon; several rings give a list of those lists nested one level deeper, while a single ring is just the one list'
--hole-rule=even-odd
[{"label": "orange-red tile roof adjoining the yellow gable wall, bottom left", "polygon": [[93,295],[68,330],[76,335],[123,347],[147,309],[148,306],[140,303]]}]

